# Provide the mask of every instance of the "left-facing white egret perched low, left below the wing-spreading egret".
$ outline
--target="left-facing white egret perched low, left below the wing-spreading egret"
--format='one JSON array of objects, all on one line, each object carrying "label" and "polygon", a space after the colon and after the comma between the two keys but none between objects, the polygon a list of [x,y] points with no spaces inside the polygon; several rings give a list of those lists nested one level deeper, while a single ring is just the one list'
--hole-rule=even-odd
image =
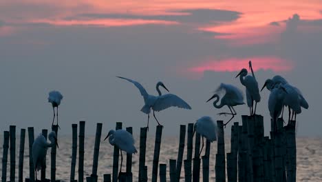
[{"label": "left-facing white egret perched low, left below the wing-spreading egret", "polygon": [[105,137],[104,141],[109,138],[111,145],[116,145],[120,149],[121,165],[120,172],[122,171],[123,155],[122,150],[128,154],[135,154],[138,152],[134,146],[134,139],[131,133],[127,130],[109,130],[109,134]]}]

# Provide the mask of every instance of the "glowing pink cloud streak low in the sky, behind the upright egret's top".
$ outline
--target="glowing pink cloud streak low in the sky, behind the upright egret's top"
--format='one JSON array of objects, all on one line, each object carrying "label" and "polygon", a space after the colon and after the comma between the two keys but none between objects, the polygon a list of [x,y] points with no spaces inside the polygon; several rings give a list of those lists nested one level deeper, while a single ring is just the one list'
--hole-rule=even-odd
[{"label": "glowing pink cloud streak low in the sky, behind the upright egret's top", "polygon": [[275,72],[290,71],[294,65],[290,61],[278,57],[251,57],[248,59],[230,58],[217,61],[206,61],[200,65],[189,68],[189,72],[202,73],[204,71],[215,72],[234,72],[239,71],[241,68],[248,68],[248,61],[253,63],[255,71],[273,70]]}]

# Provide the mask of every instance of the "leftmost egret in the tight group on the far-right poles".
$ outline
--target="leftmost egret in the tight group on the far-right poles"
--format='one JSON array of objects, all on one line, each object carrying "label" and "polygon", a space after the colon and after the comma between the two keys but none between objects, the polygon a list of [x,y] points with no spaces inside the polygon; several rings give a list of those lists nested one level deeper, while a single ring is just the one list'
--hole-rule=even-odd
[{"label": "leftmost egret in the tight group on the far-right poles", "polygon": [[287,91],[281,85],[272,89],[270,92],[270,97],[268,98],[268,110],[270,111],[270,117],[274,121],[275,132],[277,131],[277,118],[281,114],[283,108],[283,102]]}]

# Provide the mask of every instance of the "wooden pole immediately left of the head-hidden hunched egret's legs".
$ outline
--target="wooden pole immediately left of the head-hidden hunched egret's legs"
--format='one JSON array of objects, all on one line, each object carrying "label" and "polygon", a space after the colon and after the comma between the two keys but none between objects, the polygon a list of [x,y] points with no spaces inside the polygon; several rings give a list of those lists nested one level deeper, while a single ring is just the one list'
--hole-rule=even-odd
[{"label": "wooden pole immediately left of the head-hidden hunched egret's legs", "polygon": [[195,157],[193,158],[193,182],[200,181],[200,134],[195,133]]}]

